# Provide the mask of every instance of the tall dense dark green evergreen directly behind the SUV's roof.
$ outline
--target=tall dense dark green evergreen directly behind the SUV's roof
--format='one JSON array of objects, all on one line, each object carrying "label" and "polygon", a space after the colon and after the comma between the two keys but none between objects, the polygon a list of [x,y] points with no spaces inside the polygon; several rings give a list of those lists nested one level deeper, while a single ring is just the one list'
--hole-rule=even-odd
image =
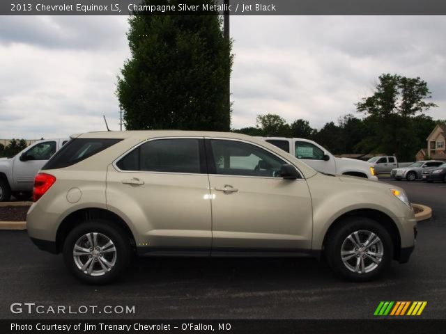
[{"label": "tall dense dark green evergreen directly behind the SUV's roof", "polygon": [[[143,4],[183,2],[144,0]],[[187,1],[200,3],[203,0]],[[131,58],[123,65],[116,90],[127,129],[229,131],[227,82],[233,54],[218,14],[134,12],[130,17]]]}]

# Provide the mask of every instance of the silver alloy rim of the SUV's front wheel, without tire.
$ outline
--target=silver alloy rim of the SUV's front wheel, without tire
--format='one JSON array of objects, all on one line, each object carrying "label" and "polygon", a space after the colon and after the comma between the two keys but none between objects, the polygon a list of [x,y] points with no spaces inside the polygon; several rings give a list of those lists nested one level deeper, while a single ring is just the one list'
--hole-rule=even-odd
[{"label": "silver alloy rim of the SUV's front wheel, without tire", "polygon": [[341,260],[353,273],[374,271],[383,260],[383,255],[383,241],[368,230],[348,234],[341,246]]}]

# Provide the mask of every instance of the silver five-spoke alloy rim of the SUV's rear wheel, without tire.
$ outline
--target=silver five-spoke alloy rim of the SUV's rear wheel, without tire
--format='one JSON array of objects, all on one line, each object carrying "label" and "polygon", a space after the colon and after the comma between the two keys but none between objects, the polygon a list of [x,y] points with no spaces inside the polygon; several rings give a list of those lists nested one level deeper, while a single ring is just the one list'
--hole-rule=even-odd
[{"label": "silver five-spoke alloy rim of the SUV's rear wheel, without tire", "polygon": [[116,264],[116,246],[105,234],[90,232],[77,239],[72,251],[77,269],[89,276],[102,276]]}]

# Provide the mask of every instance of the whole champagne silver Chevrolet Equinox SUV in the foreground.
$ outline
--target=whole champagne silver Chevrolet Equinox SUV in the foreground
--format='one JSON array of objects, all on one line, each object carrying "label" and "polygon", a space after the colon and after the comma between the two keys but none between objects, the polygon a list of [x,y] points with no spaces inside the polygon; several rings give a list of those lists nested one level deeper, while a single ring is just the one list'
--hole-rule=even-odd
[{"label": "whole champagne silver Chevrolet Equinox SUV in the foreground", "polygon": [[402,189],[318,173],[231,133],[75,135],[36,176],[33,198],[29,236],[88,283],[125,273],[134,254],[311,255],[369,280],[406,262],[417,234]]}]

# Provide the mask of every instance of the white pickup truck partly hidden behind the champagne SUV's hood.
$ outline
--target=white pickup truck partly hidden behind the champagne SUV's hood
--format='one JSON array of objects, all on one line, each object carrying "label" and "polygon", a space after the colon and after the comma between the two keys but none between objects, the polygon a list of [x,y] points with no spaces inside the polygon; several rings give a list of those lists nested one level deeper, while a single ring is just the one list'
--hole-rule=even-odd
[{"label": "white pickup truck partly hidden behind the champagne SUV's hood", "polygon": [[281,148],[305,164],[322,173],[341,174],[378,180],[372,164],[368,162],[337,158],[314,141],[304,138],[259,137],[272,145]]}]

